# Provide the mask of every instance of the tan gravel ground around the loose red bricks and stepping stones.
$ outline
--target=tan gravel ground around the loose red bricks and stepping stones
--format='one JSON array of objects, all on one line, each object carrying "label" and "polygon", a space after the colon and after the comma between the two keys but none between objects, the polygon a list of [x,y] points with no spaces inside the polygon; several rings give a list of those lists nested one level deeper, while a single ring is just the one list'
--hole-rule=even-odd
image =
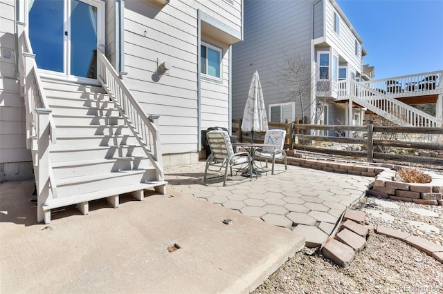
[{"label": "tan gravel ground around the loose red bricks and stepping stones", "polygon": [[[386,208],[390,202],[398,208]],[[440,217],[423,217],[409,208],[422,208]],[[395,217],[387,222],[366,213],[368,222],[389,226],[442,244],[443,206],[427,206],[368,197],[356,209],[380,210]],[[408,221],[426,222],[440,232],[425,233]],[[304,248],[255,291],[258,293],[443,293],[443,265],[400,240],[370,233],[363,251],[341,268],[318,251]]]}]

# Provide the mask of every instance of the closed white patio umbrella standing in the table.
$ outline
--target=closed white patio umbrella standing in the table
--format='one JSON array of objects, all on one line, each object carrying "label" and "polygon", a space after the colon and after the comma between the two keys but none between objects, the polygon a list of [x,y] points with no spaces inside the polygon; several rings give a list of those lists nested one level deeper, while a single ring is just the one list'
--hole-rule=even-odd
[{"label": "closed white patio umbrella standing in the table", "polygon": [[254,141],[254,132],[268,130],[268,117],[264,108],[262,85],[257,71],[254,72],[251,86],[249,86],[248,99],[243,112],[242,130],[252,132],[252,141]]}]

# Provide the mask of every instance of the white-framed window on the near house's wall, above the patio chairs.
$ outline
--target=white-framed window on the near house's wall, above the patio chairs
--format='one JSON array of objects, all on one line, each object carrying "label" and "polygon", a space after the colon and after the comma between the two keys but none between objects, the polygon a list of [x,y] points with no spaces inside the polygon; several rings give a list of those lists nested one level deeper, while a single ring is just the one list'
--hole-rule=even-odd
[{"label": "white-framed window on the near house's wall, above the patio chairs", "polygon": [[201,75],[221,80],[221,48],[201,42],[200,68]]}]

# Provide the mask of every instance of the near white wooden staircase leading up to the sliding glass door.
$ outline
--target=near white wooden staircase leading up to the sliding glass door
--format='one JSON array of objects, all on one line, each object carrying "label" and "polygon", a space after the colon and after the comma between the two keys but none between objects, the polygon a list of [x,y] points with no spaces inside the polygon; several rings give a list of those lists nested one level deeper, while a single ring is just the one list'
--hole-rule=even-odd
[{"label": "near white wooden staircase leading up to the sliding glass door", "polygon": [[[20,24],[20,76],[26,104],[27,146],[33,153],[37,187],[37,222],[51,222],[51,209],[75,204],[89,213],[89,202],[107,199],[118,207],[119,195],[142,200],[144,190],[165,194],[156,119],[131,96],[109,95],[109,82],[87,86],[39,77],[29,41]],[[105,58],[100,55],[100,58]],[[103,60],[100,62],[103,65]],[[109,73],[109,62],[102,74]],[[115,70],[113,72],[116,76]],[[118,76],[117,76],[118,77]],[[123,81],[114,81],[123,85]],[[105,83],[105,79],[101,79]],[[115,88],[115,86],[114,86]],[[111,93],[112,94],[112,93]],[[130,93],[129,93],[130,95]],[[120,99],[120,103],[118,101]],[[136,110],[134,110],[134,104]],[[139,126],[140,125],[140,126]],[[134,128],[138,126],[138,128]],[[143,132],[138,133],[142,127]]]}]

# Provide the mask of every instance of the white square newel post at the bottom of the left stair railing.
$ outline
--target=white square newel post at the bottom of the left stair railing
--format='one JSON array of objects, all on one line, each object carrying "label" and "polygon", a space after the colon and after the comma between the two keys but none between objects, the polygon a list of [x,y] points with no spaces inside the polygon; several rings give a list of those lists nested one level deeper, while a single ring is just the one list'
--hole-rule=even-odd
[{"label": "white square newel post at the bottom of the left stair railing", "polygon": [[[48,223],[50,212],[44,212],[43,205],[49,197],[49,115],[52,110],[37,108],[37,222]],[[49,215],[48,215],[49,214]]]}]

